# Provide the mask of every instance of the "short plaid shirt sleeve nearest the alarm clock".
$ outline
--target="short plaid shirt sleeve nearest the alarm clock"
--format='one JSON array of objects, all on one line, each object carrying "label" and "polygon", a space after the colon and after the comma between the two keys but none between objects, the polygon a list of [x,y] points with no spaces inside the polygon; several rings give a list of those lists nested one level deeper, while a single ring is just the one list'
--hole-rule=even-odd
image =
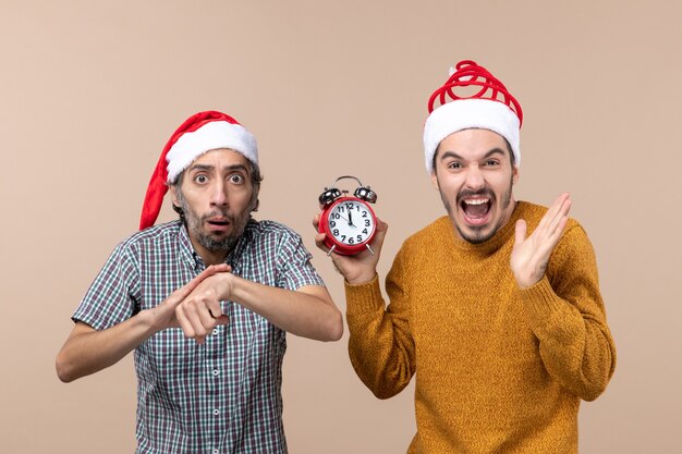
[{"label": "short plaid shirt sleeve nearest the alarm clock", "polygon": [[325,281],[310,263],[312,258],[299,234],[284,234],[277,251],[277,286],[294,291],[305,285],[324,286]]}]

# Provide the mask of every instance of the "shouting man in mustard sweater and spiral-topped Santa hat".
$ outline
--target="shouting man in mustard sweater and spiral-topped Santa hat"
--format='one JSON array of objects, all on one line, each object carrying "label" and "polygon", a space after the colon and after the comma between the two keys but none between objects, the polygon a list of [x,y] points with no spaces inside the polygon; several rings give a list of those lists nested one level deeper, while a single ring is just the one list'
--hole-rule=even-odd
[{"label": "shouting man in mustard sweater and spiral-topped Santa hat", "polygon": [[514,199],[523,114],[487,70],[460,62],[429,112],[426,168],[448,216],[404,242],[388,307],[376,272],[386,223],[375,255],[331,254],[353,367],[379,398],[416,377],[409,453],[575,453],[580,402],[616,364],[593,247],[568,194],[549,209]]}]

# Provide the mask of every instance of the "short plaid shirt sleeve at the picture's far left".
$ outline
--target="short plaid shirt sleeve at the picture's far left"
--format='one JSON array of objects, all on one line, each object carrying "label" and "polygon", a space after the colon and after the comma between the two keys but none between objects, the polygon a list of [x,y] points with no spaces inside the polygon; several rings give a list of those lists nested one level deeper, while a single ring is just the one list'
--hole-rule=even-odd
[{"label": "short plaid shirt sleeve at the picture's far left", "polygon": [[130,248],[111,254],[72,316],[96,330],[111,328],[139,311],[139,272]]}]

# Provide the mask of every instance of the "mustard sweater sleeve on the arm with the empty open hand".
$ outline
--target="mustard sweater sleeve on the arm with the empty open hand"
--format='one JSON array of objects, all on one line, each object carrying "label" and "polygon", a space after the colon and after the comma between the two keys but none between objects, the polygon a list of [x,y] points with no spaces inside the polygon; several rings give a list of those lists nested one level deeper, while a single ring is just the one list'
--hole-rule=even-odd
[{"label": "mustard sweater sleeve on the arm with the empty open hand", "polygon": [[616,346],[595,254],[582,226],[570,225],[545,277],[520,296],[549,375],[579,397],[597,398],[613,375]]}]

